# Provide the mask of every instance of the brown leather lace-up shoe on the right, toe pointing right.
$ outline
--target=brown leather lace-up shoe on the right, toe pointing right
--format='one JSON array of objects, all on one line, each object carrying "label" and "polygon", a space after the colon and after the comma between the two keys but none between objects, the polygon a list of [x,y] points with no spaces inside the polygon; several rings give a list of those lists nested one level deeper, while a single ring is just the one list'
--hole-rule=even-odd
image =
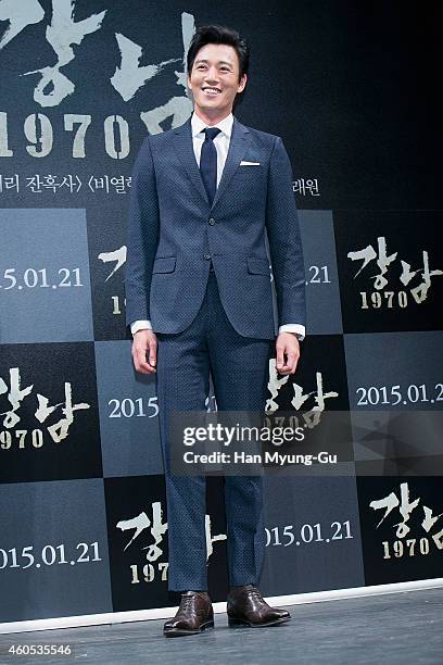
[{"label": "brown leather lace-up shoe on the right, toe pointing right", "polygon": [[227,598],[227,613],[229,626],[246,625],[252,628],[278,626],[291,618],[286,610],[268,605],[253,585],[231,587]]}]

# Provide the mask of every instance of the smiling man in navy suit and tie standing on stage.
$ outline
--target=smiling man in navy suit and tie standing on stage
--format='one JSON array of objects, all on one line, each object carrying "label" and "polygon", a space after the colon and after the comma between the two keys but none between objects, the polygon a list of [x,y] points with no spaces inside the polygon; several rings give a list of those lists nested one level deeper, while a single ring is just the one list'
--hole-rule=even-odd
[{"label": "smiling man in navy suit and tie standing on stage", "polygon": [[[197,30],[188,55],[194,111],[148,136],[132,176],[127,323],[137,372],[156,374],[165,465],[169,590],[181,591],[164,635],[214,626],[207,593],[205,478],[170,473],[174,412],[204,411],[210,373],[220,411],[264,412],[268,361],[293,374],[305,329],[305,275],[292,171],[277,136],[232,115],[249,47],[220,26]],[[275,279],[274,321],[269,259]],[[227,476],[229,625],[289,620],[257,585],[264,556],[263,477]]]}]

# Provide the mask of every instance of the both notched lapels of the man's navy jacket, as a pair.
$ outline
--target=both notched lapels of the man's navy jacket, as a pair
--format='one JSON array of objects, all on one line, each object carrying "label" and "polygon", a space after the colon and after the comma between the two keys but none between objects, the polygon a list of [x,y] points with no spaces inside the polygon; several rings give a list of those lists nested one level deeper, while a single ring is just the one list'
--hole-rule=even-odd
[{"label": "both notched lapels of the man's navy jacket, as a pair", "polygon": [[[177,127],[174,133],[174,148],[177,151],[177,154],[180,158],[190,180],[193,183],[200,195],[203,197],[203,200],[205,201],[206,205],[210,205],[207,193],[204,188],[202,176],[200,174],[200,170],[197,164],[195,154],[193,151],[191,118],[189,118],[185,123],[185,125],[181,125],[181,127]],[[215,192],[211,210],[213,210],[218,203],[223,193],[226,191],[230,179],[232,178],[237,168],[240,166],[240,162],[243,159],[248,147],[248,127],[239,123],[239,121],[235,117],[225,167],[223,170],[221,179]]]}]

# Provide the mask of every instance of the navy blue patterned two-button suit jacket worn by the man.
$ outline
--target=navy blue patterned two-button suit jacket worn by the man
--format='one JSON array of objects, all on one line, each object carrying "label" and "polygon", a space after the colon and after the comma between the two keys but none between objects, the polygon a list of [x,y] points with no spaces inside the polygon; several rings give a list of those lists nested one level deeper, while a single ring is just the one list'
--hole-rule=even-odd
[{"label": "navy blue patterned two-button suit jacket worn by the man", "polygon": [[148,136],[132,173],[127,246],[128,325],[150,319],[154,332],[185,330],[201,306],[211,260],[225,312],[240,335],[274,339],[280,325],[305,325],[292,171],[278,136],[233,120],[212,205],[195,161],[190,120]]}]

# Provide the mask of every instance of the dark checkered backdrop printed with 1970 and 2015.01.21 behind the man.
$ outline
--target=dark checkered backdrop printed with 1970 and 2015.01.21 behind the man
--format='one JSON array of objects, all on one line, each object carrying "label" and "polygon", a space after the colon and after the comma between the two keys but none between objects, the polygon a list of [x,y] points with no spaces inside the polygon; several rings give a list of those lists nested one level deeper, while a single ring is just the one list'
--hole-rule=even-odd
[{"label": "dark checkered backdrop printed with 1970 and 2015.01.21 behind the man", "polygon": [[[177,604],[155,385],[135,374],[124,324],[125,237],[135,158],[190,116],[186,53],[206,23],[249,38],[236,115],[281,136],[293,166],[307,336],[294,376],[270,364],[267,410],[349,412],[353,432],[342,474],[265,478],[262,591],[441,575],[442,457],[436,444],[420,467],[416,452],[443,405],[425,18],[395,2],[1,0],[2,623]],[[420,424],[402,438],[380,417],[396,410]],[[207,486],[221,601],[223,478]]]}]

